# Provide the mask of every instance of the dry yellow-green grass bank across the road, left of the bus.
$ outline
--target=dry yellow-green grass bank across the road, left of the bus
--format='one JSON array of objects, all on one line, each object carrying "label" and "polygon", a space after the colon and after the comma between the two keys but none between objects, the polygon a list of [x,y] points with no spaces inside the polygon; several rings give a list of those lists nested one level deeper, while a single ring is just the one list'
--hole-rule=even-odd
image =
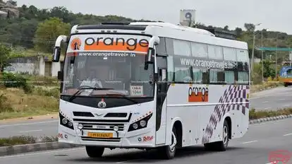
[{"label": "dry yellow-green grass bank across the road, left of the bus", "polygon": [[0,89],[0,119],[47,115],[59,111],[59,90],[33,88],[26,94],[20,88]]}]

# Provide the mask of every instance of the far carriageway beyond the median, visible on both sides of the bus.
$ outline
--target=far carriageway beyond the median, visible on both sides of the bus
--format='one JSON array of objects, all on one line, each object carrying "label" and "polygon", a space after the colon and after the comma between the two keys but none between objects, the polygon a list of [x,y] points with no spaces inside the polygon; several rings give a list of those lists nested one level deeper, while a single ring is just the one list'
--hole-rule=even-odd
[{"label": "far carriageway beyond the median, visible on both sides of the bus", "polygon": [[[252,95],[251,107],[256,110],[276,110],[278,107],[292,107],[292,87],[273,88]],[[15,135],[56,136],[58,123],[56,119],[42,121],[25,121],[14,124],[0,123],[0,138]]]}]

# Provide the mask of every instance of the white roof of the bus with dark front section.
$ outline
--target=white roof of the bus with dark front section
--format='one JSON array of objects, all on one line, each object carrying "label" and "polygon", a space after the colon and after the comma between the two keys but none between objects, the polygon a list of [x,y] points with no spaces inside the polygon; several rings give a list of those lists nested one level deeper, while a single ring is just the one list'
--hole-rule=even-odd
[{"label": "white roof of the bus with dark front section", "polygon": [[133,22],[133,23],[101,23],[99,25],[74,25],[73,33],[141,33],[169,37],[178,40],[188,40],[209,45],[248,49],[246,42],[216,37],[208,30],[190,28],[183,25],[162,22]]}]

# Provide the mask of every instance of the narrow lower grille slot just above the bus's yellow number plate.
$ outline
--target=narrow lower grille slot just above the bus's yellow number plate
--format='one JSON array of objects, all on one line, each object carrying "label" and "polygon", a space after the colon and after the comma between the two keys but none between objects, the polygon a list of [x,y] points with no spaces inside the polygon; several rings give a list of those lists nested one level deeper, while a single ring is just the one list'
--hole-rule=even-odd
[{"label": "narrow lower grille slot just above the bus's yellow number plate", "polygon": [[83,123],[83,130],[113,131],[115,126],[118,126],[118,131],[123,131],[124,124],[115,123]]}]

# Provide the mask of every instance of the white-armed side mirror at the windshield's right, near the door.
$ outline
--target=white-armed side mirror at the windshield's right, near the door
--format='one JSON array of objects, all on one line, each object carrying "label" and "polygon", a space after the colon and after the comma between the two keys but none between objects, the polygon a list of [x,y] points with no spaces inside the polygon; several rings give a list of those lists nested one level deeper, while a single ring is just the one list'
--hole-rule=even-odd
[{"label": "white-armed side mirror at the windshield's right, near the door", "polygon": [[159,41],[160,41],[159,37],[157,37],[157,36],[151,37],[151,39],[149,41],[149,48],[148,48],[147,54],[145,56],[145,70],[148,69],[148,64],[154,63],[154,56],[156,54],[154,46],[159,45]]}]

